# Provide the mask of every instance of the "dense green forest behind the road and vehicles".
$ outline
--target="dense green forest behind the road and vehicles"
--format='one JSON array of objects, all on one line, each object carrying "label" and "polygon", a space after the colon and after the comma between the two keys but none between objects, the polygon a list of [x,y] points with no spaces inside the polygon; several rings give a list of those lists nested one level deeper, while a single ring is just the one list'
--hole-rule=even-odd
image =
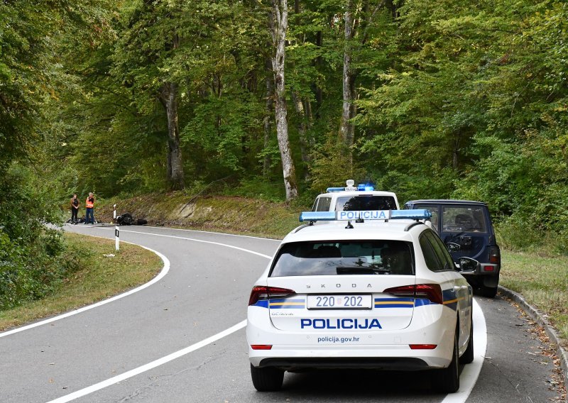
[{"label": "dense green forest behind the road and vehicles", "polygon": [[1,1],[0,294],[73,264],[72,193],[212,182],[481,200],[566,254],[567,58],[559,0]]}]

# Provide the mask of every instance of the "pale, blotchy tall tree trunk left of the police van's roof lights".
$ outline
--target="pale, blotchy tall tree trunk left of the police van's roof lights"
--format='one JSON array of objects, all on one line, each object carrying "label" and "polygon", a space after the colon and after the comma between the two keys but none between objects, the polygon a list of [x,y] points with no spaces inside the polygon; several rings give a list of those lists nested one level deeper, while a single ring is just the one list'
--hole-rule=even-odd
[{"label": "pale, blotchy tall tree trunk left of the police van's roof lights", "polygon": [[286,31],[288,31],[288,1],[272,0],[273,10],[271,13],[271,34],[275,47],[275,55],[272,58],[272,68],[275,82],[275,116],[278,148],[282,158],[282,170],[286,200],[297,197],[297,182],[294,161],[290,151],[288,139],[288,111],[285,98],[284,86],[284,59]]}]

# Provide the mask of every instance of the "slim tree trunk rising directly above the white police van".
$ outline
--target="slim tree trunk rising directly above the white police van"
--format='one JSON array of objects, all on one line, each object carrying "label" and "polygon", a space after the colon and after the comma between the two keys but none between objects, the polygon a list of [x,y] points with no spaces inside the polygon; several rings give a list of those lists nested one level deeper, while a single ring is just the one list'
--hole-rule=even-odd
[{"label": "slim tree trunk rising directly above the white police van", "polygon": [[343,111],[339,125],[339,138],[347,148],[349,166],[353,162],[351,146],[354,142],[355,128],[350,119],[355,117],[354,101],[354,72],[351,70],[353,55],[352,40],[354,35],[353,1],[347,0],[345,10],[345,45],[343,54]]}]

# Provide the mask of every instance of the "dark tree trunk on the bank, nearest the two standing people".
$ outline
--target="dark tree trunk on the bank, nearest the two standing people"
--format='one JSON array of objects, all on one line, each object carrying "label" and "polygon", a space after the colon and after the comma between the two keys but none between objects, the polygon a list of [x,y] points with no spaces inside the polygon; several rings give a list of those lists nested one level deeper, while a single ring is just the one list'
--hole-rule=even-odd
[{"label": "dark tree trunk on the bank, nearest the two standing people", "polygon": [[178,123],[178,84],[173,82],[163,84],[159,98],[168,116],[168,184],[170,189],[179,190],[185,187],[185,183]]}]

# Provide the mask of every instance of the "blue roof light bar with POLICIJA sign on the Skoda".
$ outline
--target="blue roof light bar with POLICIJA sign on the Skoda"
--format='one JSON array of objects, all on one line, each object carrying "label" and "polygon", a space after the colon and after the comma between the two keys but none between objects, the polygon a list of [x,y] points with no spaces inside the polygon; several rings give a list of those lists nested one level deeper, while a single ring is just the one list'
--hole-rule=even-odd
[{"label": "blue roof light bar with POLICIJA sign on the Skoda", "polygon": [[300,223],[304,221],[351,221],[351,220],[427,220],[432,217],[430,210],[364,210],[364,211],[303,211]]}]

